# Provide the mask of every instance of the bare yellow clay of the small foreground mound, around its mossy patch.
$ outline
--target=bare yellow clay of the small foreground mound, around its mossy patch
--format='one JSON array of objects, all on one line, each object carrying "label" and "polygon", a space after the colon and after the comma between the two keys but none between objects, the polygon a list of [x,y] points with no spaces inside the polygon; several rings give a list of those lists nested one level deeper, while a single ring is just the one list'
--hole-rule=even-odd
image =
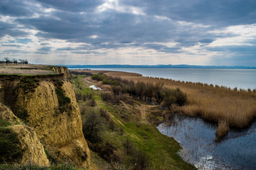
[{"label": "bare yellow clay of the small foreground mound, around its mossy patch", "polygon": [[11,126],[1,128],[8,128],[13,134],[15,134],[15,136],[18,138],[15,145],[17,146],[17,149],[21,151],[20,157],[13,159],[11,155],[6,154],[3,157],[0,157],[0,162],[6,161],[9,164],[21,165],[28,163],[38,166],[50,165],[50,162],[44,152],[43,145],[36,136],[34,129],[32,127],[23,125],[23,123],[16,116],[14,116],[12,111],[1,103],[0,119],[11,124]]}]

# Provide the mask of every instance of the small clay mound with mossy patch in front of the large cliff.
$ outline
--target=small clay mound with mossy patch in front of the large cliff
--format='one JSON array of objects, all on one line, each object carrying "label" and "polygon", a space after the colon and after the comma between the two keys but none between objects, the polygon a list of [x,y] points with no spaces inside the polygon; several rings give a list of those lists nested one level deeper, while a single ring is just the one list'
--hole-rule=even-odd
[{"label": "small clay mound with mossy patch in front of the large cliff", "polygon": [[[0,103],[0,127],[2,139],[0,163],[25,165],[32,163],[38,166],[49,166],[43,145],[36,136],[33,127],[26,126],[12,111]],[[5,122],[7,125],[3,125]],[[2,152],[6,153],[2,153]]]}]

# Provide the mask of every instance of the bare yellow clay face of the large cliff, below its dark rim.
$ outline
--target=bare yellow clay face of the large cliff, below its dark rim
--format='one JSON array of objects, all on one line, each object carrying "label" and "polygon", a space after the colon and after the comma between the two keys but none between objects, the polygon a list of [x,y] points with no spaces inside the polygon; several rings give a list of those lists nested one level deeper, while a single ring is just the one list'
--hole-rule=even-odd
[{"label": "bare yellow clay face of the large cliff, below its dark rim", "polygon": [[24,122],[34,127],[41,143],[56,161],[65,162],[68,159],[77,167],[87,168],[90,166],[90,155],[75,94],[69,82],[62,82],[58,88],[70,98],[64,109],[59,108],[54,82],[41,80],[34,92],[24,94],[20,89],[15,103],[19,109],[15,112],[27,114]]}]

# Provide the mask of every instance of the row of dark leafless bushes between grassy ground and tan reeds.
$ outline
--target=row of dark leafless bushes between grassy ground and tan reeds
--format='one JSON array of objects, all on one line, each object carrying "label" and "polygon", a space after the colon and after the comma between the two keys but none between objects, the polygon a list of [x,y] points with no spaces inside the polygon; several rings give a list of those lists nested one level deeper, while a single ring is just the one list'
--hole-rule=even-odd
[{"label": "row of dark leafless bushes between grassy ground and tan reeds", "polygon": [[172,104],[183,106],[186,102],[187,96],[180,88],[164,87],[163,83],[157,82],[134,82],[133,80],[124,80],[120,77],[106,76],[103,73],[94,74],[93,80],[102,81],[102,84],[111,86],[114,94],[129,94],[130,96],[139,97],[140,99],[155,99],[156,102],[161,103],[163,107],[171,109]]}]

